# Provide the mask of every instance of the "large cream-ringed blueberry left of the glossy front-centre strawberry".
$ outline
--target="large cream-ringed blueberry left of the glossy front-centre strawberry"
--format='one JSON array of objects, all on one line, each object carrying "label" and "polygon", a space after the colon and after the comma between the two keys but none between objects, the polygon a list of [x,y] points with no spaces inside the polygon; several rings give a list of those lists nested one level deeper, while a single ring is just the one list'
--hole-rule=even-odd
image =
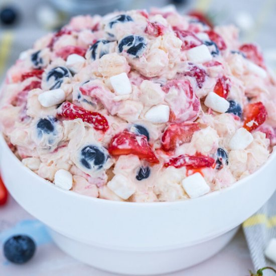
[{"label": "large cream-ringed blueberry left of the glossy front-centre strawberry", "polygon": [[81,150],[81,164],[86,169],[101,169],[107,160],[107,156],[104,153],[104,149],[100,149],[97,146],[86,146]]}]

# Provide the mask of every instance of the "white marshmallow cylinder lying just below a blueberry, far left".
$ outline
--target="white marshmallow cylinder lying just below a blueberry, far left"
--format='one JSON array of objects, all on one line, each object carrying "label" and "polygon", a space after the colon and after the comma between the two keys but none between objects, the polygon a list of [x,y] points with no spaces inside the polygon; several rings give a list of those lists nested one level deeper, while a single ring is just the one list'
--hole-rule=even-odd
[{"label": "white marshmallow cylinder lying just below a blueberry, far left", "polygon": [[65,100],[65,92],[61,89],[53,89],[45,91],[38,96],[38,101],[44,107],[50,107]]}]

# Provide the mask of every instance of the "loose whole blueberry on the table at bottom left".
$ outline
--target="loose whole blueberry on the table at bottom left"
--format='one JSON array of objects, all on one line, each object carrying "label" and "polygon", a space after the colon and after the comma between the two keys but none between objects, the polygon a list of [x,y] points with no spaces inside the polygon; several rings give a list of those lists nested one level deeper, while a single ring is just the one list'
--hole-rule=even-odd
[{"label": "loose whole blueberry on the table at bottom left", "polygon": [[25,263],[29,261],[35,251],[35,242],[26,235],[12,236],[4,244],[5,257],[14,263]]}]

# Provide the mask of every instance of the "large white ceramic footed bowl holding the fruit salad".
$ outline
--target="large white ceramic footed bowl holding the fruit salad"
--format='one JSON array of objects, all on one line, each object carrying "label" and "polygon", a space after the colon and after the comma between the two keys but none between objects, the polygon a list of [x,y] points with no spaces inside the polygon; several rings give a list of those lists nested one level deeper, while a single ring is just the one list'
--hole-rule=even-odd
[{"label": "large white ceramic footed bowl holding the fruit salad", "polygon": [[275,151],[233,186],[180,202],[131,203],[82,196],[42,179],[0,137],[0,166],[16,201],[73,257],[120,274],[180,270],[218,252],[276,188]]}]

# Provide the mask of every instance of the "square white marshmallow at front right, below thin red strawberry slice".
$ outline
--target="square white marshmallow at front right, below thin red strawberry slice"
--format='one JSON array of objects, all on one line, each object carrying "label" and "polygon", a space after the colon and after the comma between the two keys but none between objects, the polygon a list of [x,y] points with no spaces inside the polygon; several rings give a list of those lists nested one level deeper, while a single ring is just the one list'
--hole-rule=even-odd
[{"label": "square white marshmallow at front right, below thin red strawberry slice", "polygon": [[200,173],[195,173],[182,180],[182,187],[190,198],[203,196],[210,192],[210,187]]}]

